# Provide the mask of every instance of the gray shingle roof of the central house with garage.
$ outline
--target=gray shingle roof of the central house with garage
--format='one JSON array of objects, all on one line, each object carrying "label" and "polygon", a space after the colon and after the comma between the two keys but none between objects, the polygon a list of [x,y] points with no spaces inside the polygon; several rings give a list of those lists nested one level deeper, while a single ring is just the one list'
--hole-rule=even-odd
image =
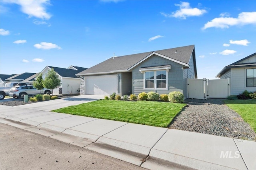
[{"label": "gray shingle roof of the central house with garage", "polygon": [[[79,72],[78,75],[90,74],[90,73],[100,73],[100,72],[111,72],[118,70],[127,70],[130,67],[134,66],[134,64],[140,62],[142,59],[147,57],[153,52],[159,53],[176,61],[180,61],[182,63],[189,63],[190,57],[192,55],[194,49],[194,45],[184,46],[184,47],[176,47],[172,49],[158,50],[158,51],[150,51],[146,53],[139,53],[133,55],[125,55],[120,57],[112,57],[102,63],[99,63],[87,70]],[[177,53],[176,53],[177,51]]]}]

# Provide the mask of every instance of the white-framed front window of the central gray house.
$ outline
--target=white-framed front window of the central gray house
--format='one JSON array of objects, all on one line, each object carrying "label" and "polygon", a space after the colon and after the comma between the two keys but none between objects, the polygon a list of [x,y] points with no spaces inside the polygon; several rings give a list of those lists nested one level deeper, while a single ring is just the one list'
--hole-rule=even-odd
[{"label": "white-framed front window of the central gray house", "polygon": [[145,89],[158,89],[167,88],[167,71],[146,71],[144,72],[144,88]]}]

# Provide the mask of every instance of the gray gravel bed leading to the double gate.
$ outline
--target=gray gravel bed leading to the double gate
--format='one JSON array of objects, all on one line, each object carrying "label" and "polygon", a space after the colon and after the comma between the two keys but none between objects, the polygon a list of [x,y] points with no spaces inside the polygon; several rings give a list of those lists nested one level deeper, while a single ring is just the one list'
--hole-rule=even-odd
[{"label": "gray gravel bed leading to the double gate", "polygon": [[169,128],[256,141],[256,133],[242,117],[224,105],[224,99],[186,99],[188,104]]}]

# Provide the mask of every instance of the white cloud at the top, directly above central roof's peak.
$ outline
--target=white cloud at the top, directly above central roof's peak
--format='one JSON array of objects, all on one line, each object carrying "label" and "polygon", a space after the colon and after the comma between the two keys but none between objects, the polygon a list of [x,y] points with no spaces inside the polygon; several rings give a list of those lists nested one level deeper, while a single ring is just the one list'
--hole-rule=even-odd
[{"label": "white cloud at the top, directly above central roof's peak", "polygon": [[175,6],[179,6],[180,10],[172,12],[172,14],[165,14],[164,12],[161,12],[160,14],[162,14],[165,17],[181,18],[185,20],[187,17],[201,16],[207,12],[206,10],[191,8],[188,2],[180,2],[180,4],[175,4]]}]

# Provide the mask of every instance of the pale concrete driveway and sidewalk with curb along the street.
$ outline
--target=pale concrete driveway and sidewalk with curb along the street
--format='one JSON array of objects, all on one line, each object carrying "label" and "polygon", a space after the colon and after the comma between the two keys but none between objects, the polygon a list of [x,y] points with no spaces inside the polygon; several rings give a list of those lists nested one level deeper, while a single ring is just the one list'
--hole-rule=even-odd
[{"label": "pale concrete driveway and sidewalk with curb along the street", "polygon": [[55,104],[44,106],[46,102],[36,103],[38,106],[0,105],[0,123],[153,170],[256,169],[256,142],[253,141],[46,111],[97,98],[76,97],[69,104],[61,99],[62,102],[53,100]]}]

